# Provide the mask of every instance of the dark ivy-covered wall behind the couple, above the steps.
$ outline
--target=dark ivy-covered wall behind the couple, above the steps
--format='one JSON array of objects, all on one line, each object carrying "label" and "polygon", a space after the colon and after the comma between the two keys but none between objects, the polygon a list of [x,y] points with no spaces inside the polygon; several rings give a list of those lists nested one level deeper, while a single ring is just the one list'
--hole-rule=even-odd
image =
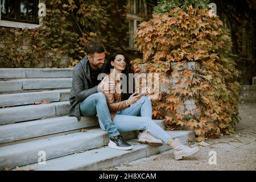
[{"label": "dark ivy-covered wall behind the couple, above the steps", "polygon": [[106,52],[125,51],[127,1],[46,0],[43,26],[0,30],[0,67],[33,68],[47,57],[54,67],[64,67],[55,53],[71,57],[70,66],[85,56],[86,43],[98,41]]}]

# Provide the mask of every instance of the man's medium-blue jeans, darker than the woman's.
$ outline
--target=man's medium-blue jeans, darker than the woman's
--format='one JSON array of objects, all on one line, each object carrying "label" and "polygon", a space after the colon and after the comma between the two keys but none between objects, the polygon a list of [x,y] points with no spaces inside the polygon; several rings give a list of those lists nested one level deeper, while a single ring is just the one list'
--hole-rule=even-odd
[{"label": "man's medium-blue jeans, darker than the woman's", "polygon": [[112,122],[109,108],[104,93],[94,93],[80,102],[80,112],[82,116],[92,116],[98,114],[100,125],[109,133],[109,137],[119,135],[117,127]]}]

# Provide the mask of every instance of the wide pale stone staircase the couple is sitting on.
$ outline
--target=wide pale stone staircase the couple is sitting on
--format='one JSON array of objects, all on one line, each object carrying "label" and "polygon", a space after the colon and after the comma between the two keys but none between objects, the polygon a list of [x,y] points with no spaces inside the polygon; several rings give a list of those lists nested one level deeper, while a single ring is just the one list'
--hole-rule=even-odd
[{"label": "wide pale stone staircase the couple is sitting on", "polygon": [[[67,116],[71,84],[72,68],[0,69],[0,170],[100,170],[170,150],[139,144],[138,131],[122,133],[133,150],[108,148],[96,117],[78,122]],[[41,101],[51,103],[34,104]],[[164,129],[162,120],[154,122]],[[195,140],[192,131],[168,134],[183,143]],[[43,156],[46,164],[38,163]]]}]

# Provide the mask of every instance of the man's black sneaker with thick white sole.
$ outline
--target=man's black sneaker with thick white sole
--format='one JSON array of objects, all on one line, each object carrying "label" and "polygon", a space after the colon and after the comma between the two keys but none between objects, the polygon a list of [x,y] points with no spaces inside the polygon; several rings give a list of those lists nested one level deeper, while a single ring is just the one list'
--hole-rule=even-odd
[{"label": "man's black sneaker with thick white sole", "polygon": [[109,139],[109,148],[114,148],[117,150],[131,150],[131,148],[133,148],[133,146],[123,140],[122,135],[110,137]]}]

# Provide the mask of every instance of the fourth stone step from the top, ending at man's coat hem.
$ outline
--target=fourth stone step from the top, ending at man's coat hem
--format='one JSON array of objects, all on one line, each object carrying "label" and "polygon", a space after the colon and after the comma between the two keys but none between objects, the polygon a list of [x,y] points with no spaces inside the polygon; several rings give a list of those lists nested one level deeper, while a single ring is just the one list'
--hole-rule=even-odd
[{"label": "fourth stone step from the top, ending at man's coat hem", "polygon": [[69,107],[69,101],[64,101],[53,102],[51,104],[17,106],[0,109],[0,125],[55,117],[57,115],[67,115]]}]

